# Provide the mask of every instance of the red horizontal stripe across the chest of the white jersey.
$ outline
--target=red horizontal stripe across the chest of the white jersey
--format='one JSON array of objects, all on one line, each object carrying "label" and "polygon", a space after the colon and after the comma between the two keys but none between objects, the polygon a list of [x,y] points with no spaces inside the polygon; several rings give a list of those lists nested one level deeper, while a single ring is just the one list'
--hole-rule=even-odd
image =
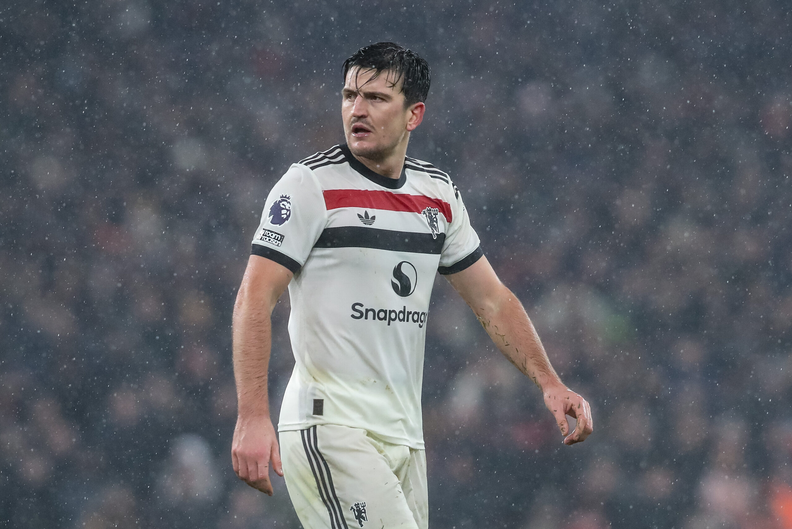
[{"label": "red horizontal stripe across the chest of the white jersey", "polygon": [[437,208],[451,222],[451,205],[440,198],[368,190],[326,190],[323,193],[327,209],[371,208],[421,213],[425,208]]}]

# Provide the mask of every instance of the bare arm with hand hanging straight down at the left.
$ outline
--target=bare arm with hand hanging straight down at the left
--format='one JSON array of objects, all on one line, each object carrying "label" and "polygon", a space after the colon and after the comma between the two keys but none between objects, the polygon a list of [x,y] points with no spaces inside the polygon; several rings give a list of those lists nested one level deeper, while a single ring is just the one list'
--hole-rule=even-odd
[{"label": "bare arm with hand hanging straight down at the left", "polygon": [[251,255],[234,304],[234,379],[238,408],[231,461],[242,481],[270,496],[273,491],[269,462],[272,461],[279,476],[284,475],[275,428],[269,418],[270,316],[291,276],[285,266]]}]

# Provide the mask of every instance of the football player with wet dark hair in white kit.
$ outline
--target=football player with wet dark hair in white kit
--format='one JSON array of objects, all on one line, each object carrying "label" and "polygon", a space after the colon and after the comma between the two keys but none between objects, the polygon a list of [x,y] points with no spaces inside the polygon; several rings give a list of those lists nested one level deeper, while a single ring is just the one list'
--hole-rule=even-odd
[{"label": "football player with wet dark hair in white kit", "polygon": [[[371,44],[346,60],[344,79],[346,144],[289,167],[253,238],[234,306],[231,458],[242,480],[270,495],[272,462],[306,529],[425,529],[421,378],[436,271],[542,390],[564,443],[591,433],[591,410],[558,378],[520,301],[489,266],[451,179],[406,156],[424,117],[426,61]],[[270,314],[287,286],[295,368],[279,447],[267,368]],[[566,415],[577,418],[572,432]]]}]

